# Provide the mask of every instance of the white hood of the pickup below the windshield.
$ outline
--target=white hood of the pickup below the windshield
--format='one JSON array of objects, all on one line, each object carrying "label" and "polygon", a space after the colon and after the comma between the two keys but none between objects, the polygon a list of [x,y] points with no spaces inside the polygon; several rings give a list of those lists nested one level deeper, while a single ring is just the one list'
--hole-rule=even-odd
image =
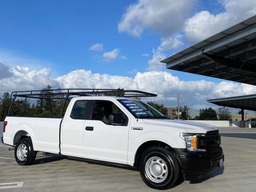
[{"label": "white hood of the pickup below the windshield", "polygon": [[158,126],[183,128],[188,133],[206,133],[207,131],[218,130],[213,125],[191,122],[191,121],[176,120],[176,119],[143,119],[143,121],[145,123],[154,124]]}]

